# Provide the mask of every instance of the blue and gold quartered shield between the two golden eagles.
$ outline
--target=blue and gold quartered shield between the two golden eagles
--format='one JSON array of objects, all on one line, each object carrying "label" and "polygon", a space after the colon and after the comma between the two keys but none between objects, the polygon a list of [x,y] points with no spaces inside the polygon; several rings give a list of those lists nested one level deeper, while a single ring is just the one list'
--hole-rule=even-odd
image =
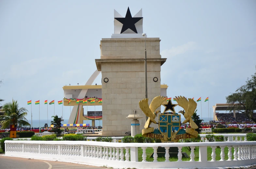
[{"label": "blue and gold quartered shield between the two golden eagles", "polygon": [[179,114],[159,114],[158,129],[168,139],[176,135],[180,130]]}]

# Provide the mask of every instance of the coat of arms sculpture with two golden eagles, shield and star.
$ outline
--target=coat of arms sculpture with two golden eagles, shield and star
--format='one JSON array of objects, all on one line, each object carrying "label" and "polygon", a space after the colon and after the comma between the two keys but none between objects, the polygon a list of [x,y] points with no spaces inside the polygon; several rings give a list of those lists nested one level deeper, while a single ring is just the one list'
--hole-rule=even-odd
[{"label": "coat of arms sculpture with two golden eagles, shield and star", "polygon": [[[185,97],[175,97],[178,104],[173,104],[171,100],[164,104],[166,97],[158,96],[155,97],[150,105],[148,105],[148,98],[145,98],[139,102],[141,110],[148,117],[144,128],[142,130],[142,135],[144,137],[161,139],[162,142],[177,142],[179,139],[186,138],[196,138],[198,132],[195,129],[198,128],[196,123],[192,120],[191,116],[194,114],[197,103],[191,98]],[[157,110],[161,105],[165,106],[163,113]],[[184,110],[179,111],[180,114],[176,113],[174,107],[179,105]],[[168,110],[170,110],[168,112]],[[160,113],[160,114],[158,114]],[[184,116],[185,120],[183,124],[189,123],[190,127],[181,129],[181,114]],[[158,115],[158,122],[155,118]],[[150,127],[151,123],[158,124],[158,128],[154,129]]]}]

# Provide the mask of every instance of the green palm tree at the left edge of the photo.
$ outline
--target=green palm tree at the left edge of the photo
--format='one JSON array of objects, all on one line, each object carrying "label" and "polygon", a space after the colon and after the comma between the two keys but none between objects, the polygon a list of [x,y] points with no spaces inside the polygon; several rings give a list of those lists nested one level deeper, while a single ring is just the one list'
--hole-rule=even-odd
[{"label": "green palm tree at the left edge of the photo", "polygon": [[18,126],[30,125],[25,118],[28,110],[23,107],[19,108],[17,100],[12,99],[12,102],[5,103],[3,105],[3,111],[5,112],[4,115],[0,116],[2,120],[0,122],[1,128],[8,128],[11,124]]}]

